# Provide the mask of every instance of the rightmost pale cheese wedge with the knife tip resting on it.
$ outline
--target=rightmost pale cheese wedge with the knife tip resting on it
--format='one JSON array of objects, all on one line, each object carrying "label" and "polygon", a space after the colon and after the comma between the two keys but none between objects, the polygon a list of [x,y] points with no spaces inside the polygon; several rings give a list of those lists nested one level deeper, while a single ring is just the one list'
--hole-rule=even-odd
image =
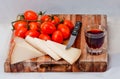
[{"label": "rightmost pale cheese wedge with the knife tip resting on it", "polygon": [[65,45],[50,40],[46,42],[46,45],[70,64],[73,64],[75,61],[77,61],[81,54],[80,49],[73,47],[65,49]]}]

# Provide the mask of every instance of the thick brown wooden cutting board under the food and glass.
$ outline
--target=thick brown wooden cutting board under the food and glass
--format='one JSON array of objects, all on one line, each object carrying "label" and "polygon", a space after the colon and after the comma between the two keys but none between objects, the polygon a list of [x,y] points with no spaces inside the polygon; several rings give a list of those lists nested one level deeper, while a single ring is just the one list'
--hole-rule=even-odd
[{"label": "thick brown wooden cutting board under the food and glass", "polygon": [[[73,65],[70,65],[65,60],[61,59],[60,61],[54,61],[49,56],[42,56],[30,60],[26,60],[17,64],[10,64],[10,56],[14,48],[14,42],[11,39],[10,50],[8,57],[4,64],[5,72],[104,72],[107,70],[108,66],[108,35],[105,37],[104,48],[106,49],[101,55],[90,55],[86,52],[86,43],[84,37],[84,28],[87,25],[95,23],[97,25],[101,24],[106,28],[107,27],[107,16],[106,15],[84,15],[84,14],[58,14],[60,18],[65,18],[71,20],[73,24],[76,21],[82,22],[81,31],[76,38],[76,41],[73,47],[79,48],[82,51],[82,54],[77,62]],[[64,42],[66,44],[67,41]],[[74,53],[74,52],[73,52]]]}]

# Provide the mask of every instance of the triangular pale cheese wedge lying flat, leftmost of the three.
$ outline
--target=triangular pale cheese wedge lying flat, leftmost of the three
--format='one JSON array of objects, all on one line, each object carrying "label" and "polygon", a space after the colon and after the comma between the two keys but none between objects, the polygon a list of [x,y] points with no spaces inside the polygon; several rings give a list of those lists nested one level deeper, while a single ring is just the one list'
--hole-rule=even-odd
[{"label": "triangular pale cheese wedge lying flat, leftmost of the three", "polygon": [[44,54],[29,45],[24,39],[15,37],[15,47],[11,55],[11,64],[43,56]]}]

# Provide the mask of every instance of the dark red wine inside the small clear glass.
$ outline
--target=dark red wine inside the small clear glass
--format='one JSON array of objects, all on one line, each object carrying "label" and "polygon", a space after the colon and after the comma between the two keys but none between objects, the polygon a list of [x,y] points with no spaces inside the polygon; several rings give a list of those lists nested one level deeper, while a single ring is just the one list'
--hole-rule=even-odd
[{"label": "dark red wine inside the small clear glass", "polygon": [[85,34],[85,39],[90,48],[100,48],[104,42],[104,32],[102,30],[90,30]]}]

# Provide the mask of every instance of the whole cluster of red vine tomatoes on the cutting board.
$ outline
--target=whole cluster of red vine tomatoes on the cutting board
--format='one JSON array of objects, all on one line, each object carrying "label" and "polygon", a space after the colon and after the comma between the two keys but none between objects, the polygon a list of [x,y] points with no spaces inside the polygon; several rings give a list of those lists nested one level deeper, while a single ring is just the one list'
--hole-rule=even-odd
[{"label": "whole cluster of red vine tomatoes on the cutting board", "polygon": [[[32,10],[23,13],[23,19],[12,22],[15,36],[25,38],[27,35],[43,40],[63,43],[74,28],[70,20],[55,15],[40,15]],[[62,19],[62,20],[61,20]]]}]

